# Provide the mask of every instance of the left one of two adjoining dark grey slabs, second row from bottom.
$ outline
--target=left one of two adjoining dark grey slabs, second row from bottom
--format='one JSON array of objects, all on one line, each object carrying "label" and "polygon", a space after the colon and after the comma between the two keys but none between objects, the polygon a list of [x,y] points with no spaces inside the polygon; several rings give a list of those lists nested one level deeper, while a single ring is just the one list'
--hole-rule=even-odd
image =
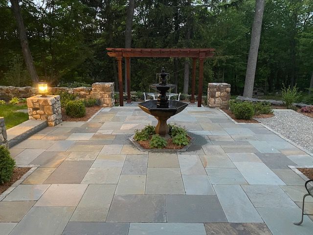
[{"label": "left one of two adjoining dark grey slabs, second row from bottom", "polygon": [[107,222],[165,222],[164,195],[115,195]]}]

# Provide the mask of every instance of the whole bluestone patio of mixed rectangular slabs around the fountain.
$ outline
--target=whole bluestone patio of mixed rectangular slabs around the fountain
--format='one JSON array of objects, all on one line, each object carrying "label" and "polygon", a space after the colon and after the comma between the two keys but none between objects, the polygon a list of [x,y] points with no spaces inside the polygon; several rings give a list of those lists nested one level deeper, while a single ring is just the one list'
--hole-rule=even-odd
[{"label": "whole bluestone patio of mixed rectangular slabs around the fountain", "polygon": [[312,156],[218,109],[190,106],[169,122],[196,138],[186,152],[138,150],[128,138],[156,119],[137,107],[11,148],[18,165],[38,168],[0,202],[0,235],[312,235],[312,218],[293,225],[305,181],[289,167]]}]

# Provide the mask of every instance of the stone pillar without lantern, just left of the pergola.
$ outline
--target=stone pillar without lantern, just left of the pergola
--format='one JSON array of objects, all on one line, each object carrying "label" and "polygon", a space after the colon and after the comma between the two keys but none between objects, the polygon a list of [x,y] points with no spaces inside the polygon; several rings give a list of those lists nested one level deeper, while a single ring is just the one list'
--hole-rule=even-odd
[{"label": "stone pillar without lantern, just left of the pergola", "polygon": [[100,100],[103,107],[113,107],[114,82],[96,82],[92,84],[92,97]]}]

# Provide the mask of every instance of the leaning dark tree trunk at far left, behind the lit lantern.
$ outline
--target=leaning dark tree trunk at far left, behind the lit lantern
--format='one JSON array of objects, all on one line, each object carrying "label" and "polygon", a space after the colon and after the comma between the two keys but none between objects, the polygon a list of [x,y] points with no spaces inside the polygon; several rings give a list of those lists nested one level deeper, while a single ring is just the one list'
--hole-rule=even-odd
[{"label": "leaning dark tree trunk at far left, behind the lit lantern", "polygon": [[29,47],[28,47],[28,40],[26,36],[25,26],[23,23],[23,18],[21,14],[21,9],[19,5],[18,0],[10,0],[11,2],[11,8],[13,10],[13,13],[15,15],[15,19],[18,25],[19,35],[20,35],[20,41],[21,41],[21,47],[22,47],[22,53],[24,57],[24,61],[27,67],[27,70],[30,74],[30,77],[33,81],[33,83],[38,83],[38,75],[37,71],[34,66],[33,57],[31,56]]}]

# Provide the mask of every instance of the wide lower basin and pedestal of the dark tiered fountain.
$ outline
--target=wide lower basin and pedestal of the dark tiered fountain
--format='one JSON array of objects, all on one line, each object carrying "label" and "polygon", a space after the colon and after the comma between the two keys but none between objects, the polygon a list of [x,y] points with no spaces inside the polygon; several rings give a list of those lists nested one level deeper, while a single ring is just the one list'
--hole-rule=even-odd
[{"label": "wide lower basin and pedestal of the dark tiered fountain", "polygon": [[169,132],[169,127],[166,123],[167,119],[180,113],[188,106],[188,104],[178,100],[169,100],[168,108],[158,108],[156,103],[157,100],[148,100],[139,103],[138,106],[144,112],[154,116],[158,120],[156,125],[156,134],[165,136]]}]

